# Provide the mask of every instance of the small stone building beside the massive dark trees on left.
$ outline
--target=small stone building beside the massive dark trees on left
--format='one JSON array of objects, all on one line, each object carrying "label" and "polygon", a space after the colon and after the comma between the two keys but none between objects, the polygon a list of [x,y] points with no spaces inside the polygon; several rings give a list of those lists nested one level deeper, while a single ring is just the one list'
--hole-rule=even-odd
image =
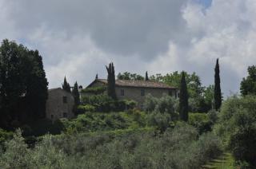
[{"label": "small stone building beside the massive dark trees on left", "polygon": [[52,121],[60,118],[74,117],[74,97],[70,92],[62,88],[52,88],[48,90],[48,100],[46,101],[46,118]]}]

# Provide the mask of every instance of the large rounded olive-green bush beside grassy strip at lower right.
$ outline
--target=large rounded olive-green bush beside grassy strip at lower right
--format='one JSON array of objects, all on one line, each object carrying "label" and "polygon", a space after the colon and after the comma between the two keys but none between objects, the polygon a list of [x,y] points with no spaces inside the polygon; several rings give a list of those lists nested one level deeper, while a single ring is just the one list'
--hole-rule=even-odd
[{"label": "large rounded olive-green bush beside grassy strip at lower right", "polygon": [[234,158],[256,166],[256,97],[230,97],[223,105],[215,130]]}]

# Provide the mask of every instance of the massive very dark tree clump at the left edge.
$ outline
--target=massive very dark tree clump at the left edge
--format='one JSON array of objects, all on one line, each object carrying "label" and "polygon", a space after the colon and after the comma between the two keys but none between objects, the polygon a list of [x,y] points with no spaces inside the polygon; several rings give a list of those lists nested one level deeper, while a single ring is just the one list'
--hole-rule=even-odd
[{"label": "massive very dark tree clump at the left edge", "polygon": [[38,50],[14,41],[0,46],[0,128],[17,128],[46,116],[46,73]]}]

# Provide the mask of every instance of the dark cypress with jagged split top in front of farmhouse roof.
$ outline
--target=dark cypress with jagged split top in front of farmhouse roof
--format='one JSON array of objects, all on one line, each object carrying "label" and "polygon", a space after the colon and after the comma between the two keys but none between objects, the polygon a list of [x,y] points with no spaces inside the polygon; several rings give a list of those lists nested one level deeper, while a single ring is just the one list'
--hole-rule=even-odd
[{"label": "dark cypress with jagged split top in front of farmhouse roof", "polygon": [[107,70],[107,95],[112,99],[117,100],[115,93],[115,75],[114,75],[114,64],[110,63],[109,67],[106,66]]}]

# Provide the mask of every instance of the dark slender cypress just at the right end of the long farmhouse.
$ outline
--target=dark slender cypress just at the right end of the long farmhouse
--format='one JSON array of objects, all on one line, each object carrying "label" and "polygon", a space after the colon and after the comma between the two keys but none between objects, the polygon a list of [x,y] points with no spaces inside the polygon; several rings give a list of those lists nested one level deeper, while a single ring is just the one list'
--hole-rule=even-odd
[{"label": "dark slender cypress just at the right end of the long farmhouse", "polygon": [[180,95],[179,95],[179,117],[181,120],[188,120],[189,104],[188,104],[188,93],[186,87],[185,73],[182,72],[182,80],[180,86]]}]

